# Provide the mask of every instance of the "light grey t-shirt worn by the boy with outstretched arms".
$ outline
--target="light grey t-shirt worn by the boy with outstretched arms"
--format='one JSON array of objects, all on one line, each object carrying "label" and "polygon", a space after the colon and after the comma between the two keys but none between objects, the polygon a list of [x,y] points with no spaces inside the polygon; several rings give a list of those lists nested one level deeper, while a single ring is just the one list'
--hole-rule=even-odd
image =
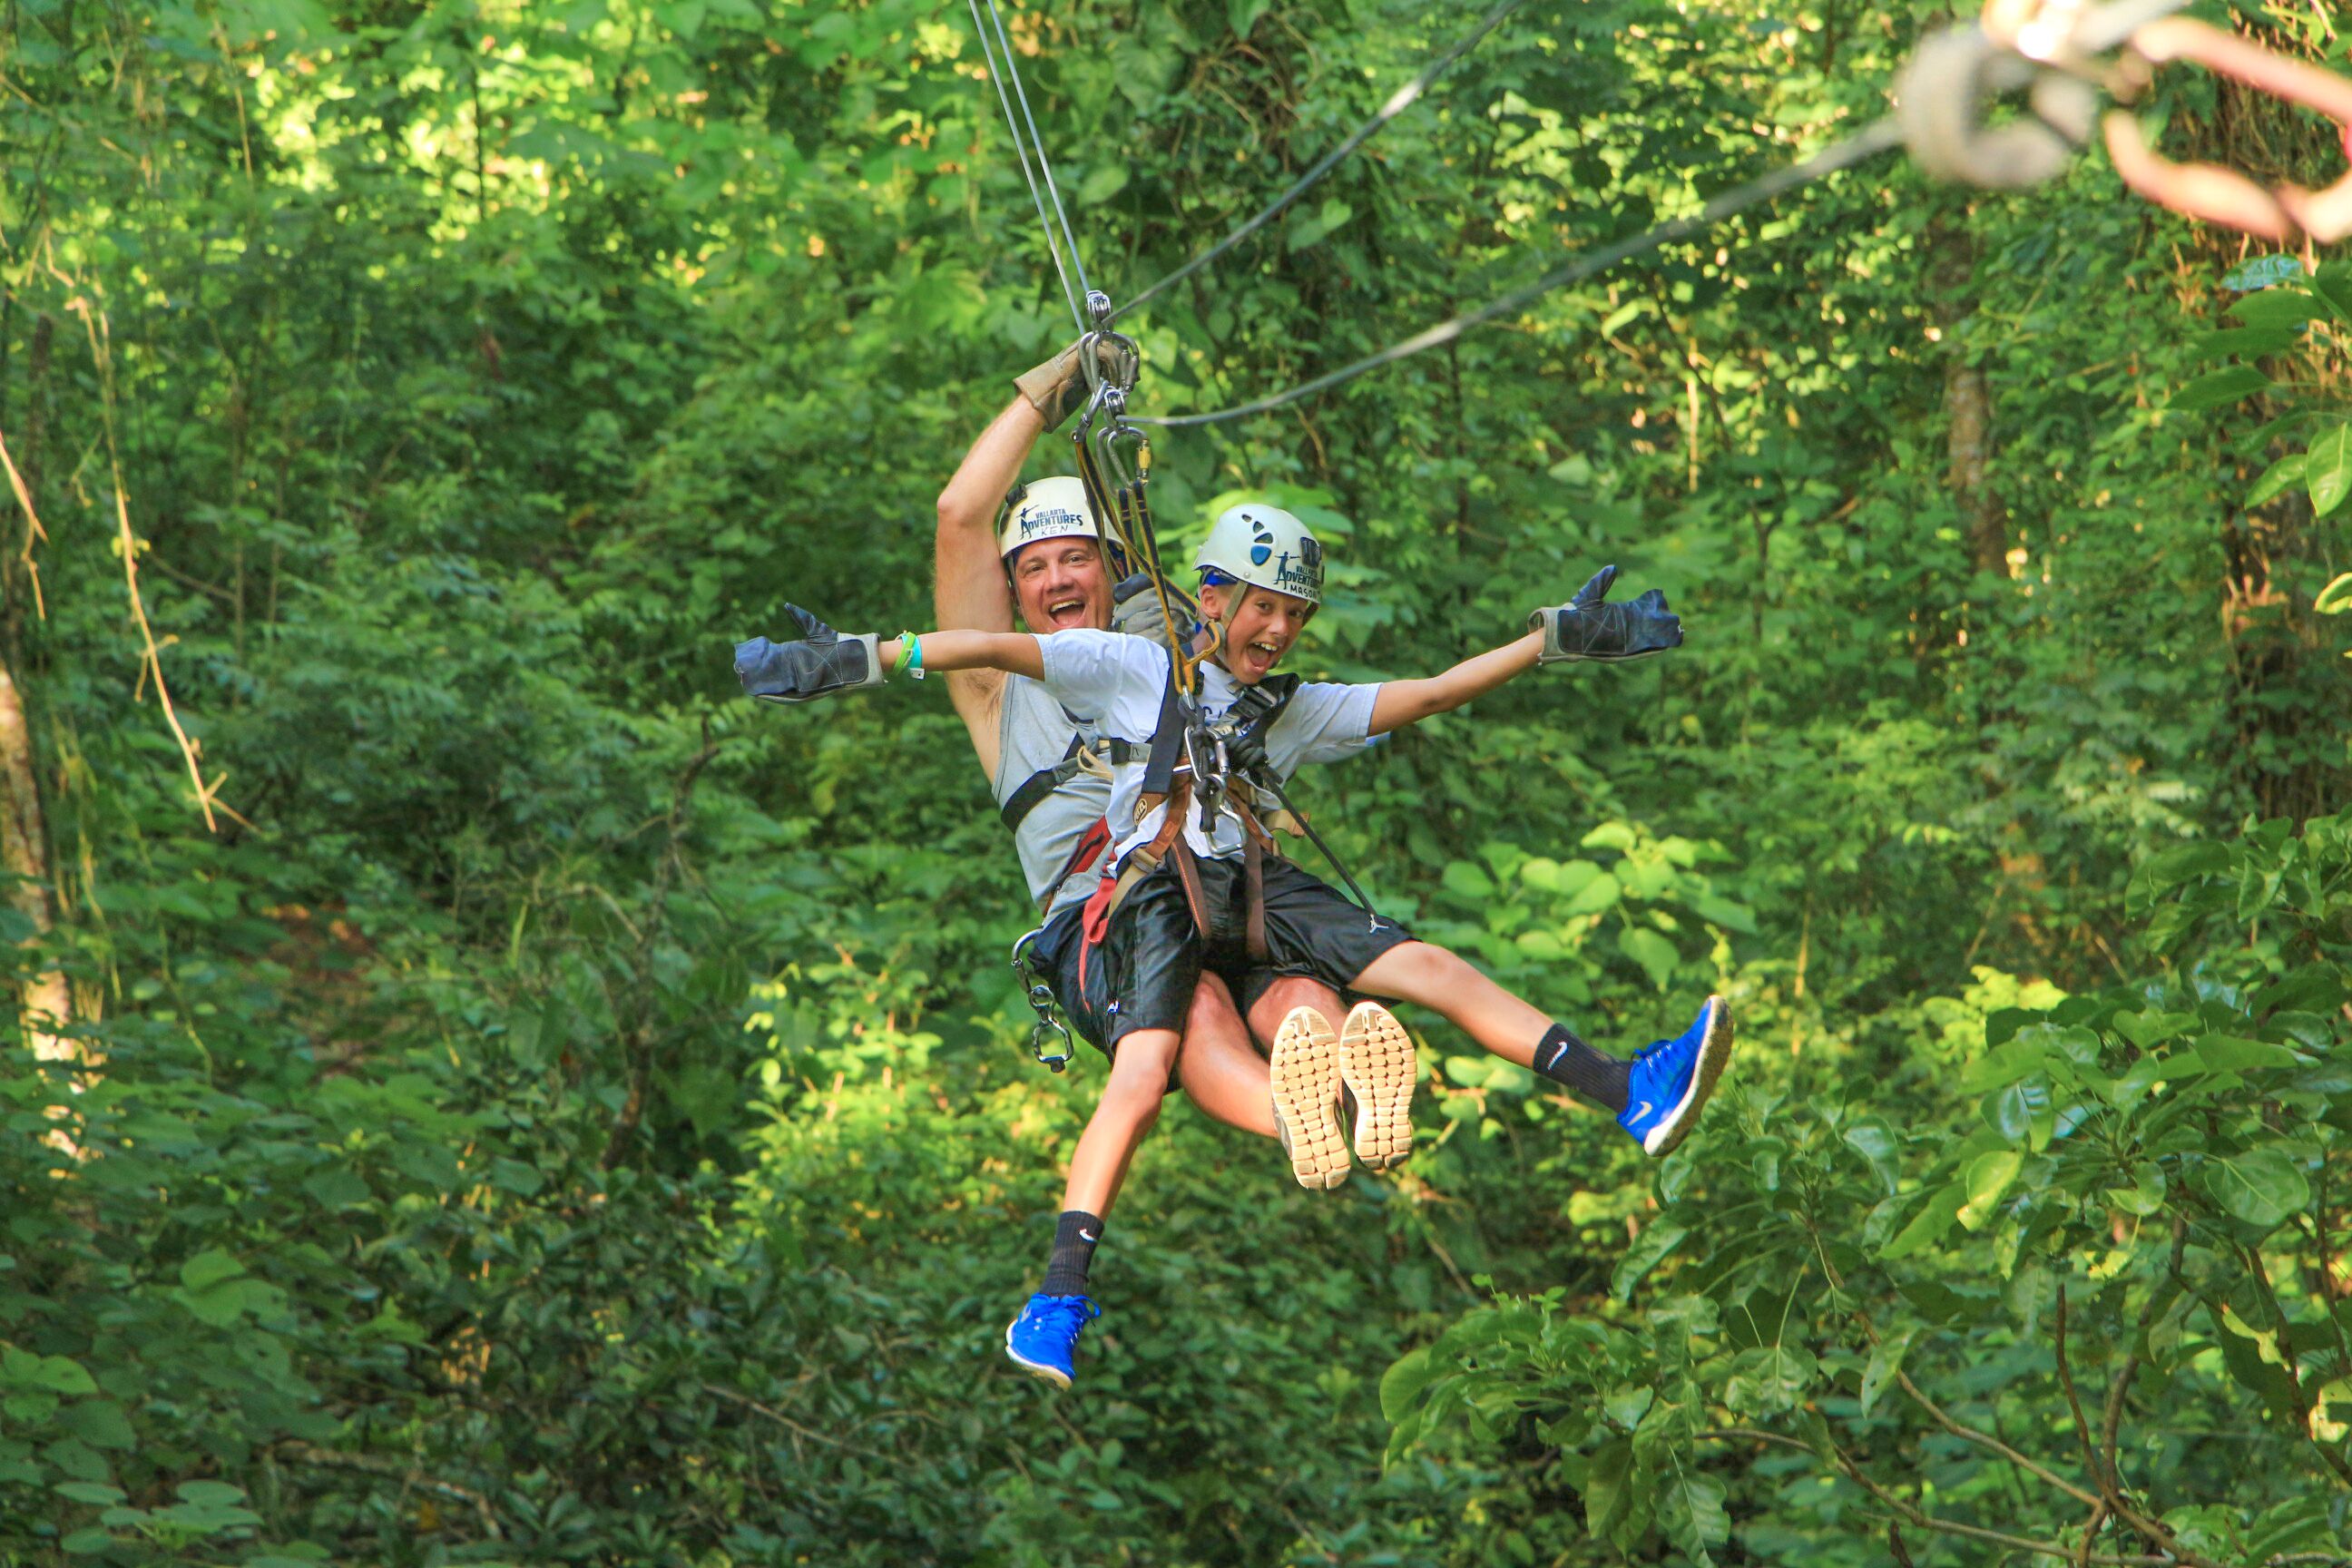
[{"label": "light grey t-shirt worn by the boy with outstretched arms", "polygon": [[[1169,682],[1164,646],[1117,632],[1070,630],[1037,637],[1044,658],[1044,691],[1089,733],[1148,748],[1160,726],[1160,703]],[[1216,722],[1242,686],[1221,665],[1202,665],[1202,717]],[[1289,780],[1308,762],[1355,757],[1371,745],[1371,705],[1381,686],[1341,682],[1301,682],[1282,717],[1265,731],[1265,764],[1275,778]],[[1068,745],[1068,741],[1063,741]],[[1136,799],[1143,795],[1143,759],[1110,769],[1105,816],[1117,835],[1115,853],[1124,856],[1160,832],[1167,806],[1155,806],[1136,823]],[[1129,823],[1134,823],[1129,827]],[[1197,813],[1185,813],[1185,842],[1192,853],[1237,858],[1244,849],[1242,818],[1232,809],[1216,816],[1209,835]]]}]

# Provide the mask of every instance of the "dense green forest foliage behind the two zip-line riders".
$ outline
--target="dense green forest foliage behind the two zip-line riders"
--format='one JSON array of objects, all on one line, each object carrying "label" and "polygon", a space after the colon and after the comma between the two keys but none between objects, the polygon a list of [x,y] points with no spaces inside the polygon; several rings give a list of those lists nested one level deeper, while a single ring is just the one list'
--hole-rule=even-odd
[{"label": "dense green forest foliage behind the two zip-line riders", "polygon": [[[1145,404],[1830,141],[1915,12],[1522,7],[1134,322]],[[1007,21],[1129,296],[1468,19]],[[2117,1512],[2105,1552],[2340,1554],[2352,301],[2096,158],[1844,176],[1160,442],[1171,536],[1261,494],[1336,541],[1315,672],[1439,668],[1611,559],[1672,597],[1675,658],[1303,788],[1383,907],[1590,1037],[1717,990],[1745,1044],[1665,1166],[1449,1030],[1414,1161],[1338,1194],[1176,1103],[1084,1385],[1004,1371],[1098,1063],[1018,1048],[1018,877],[936,682],[809,717],[724,670],[779,599],[920,623],[931,498],[1063,334],[964,28],[0,19],[40,515],[0,661],[47,865],[0,936],[73,999],[0,1074],[0,1561],[1999,1554],[1915,1516],[2072,1554],[2060,1342],[2171,1542]],[[2194,73],[2157,108],[2340,167]]]}]

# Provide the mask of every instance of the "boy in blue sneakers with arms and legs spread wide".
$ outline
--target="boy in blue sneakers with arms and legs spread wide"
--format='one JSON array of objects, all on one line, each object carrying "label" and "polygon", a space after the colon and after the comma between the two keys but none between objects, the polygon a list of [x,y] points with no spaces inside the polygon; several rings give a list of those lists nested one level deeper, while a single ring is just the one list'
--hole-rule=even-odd
[{"label": "boy in blue sneakers with arms and legs spread wide", "polygon": [[[1322,545],[1279,508],[1235,508],[1211,529],[1197,567],[1204,628],[1192,705],[1197,717],[1223,726],[1235,755],[1249,757],[1230,780],[1197,780],[1185,764],[1167,766],[1176,705],[1169,682],[1178,668],[1136,637],[1070,623],[1051,635],[950,630],[842,639],[793,609],[807,642],[746,644],[755,649],[746,684],[779,701],[880,684],[891,668],[988,668],[1040,682],[1108,743],[1112,846],[1101,860],[1094,896],[1101,919],[1089,922],[1087,947],[1096,945],[1094,931],[1105,933],[1120,1011],[1108,1023],[1110,1081],[1070,1159],[1065,1220],[1070,1213],[1096,1220],[1117,1194],[1136,1143],[1157,1117],[1160,1084],[1181,1060],[1197,976],[1240,964],[1261,936],[1277,966],[1305,966],[1334,985],[1437,1009],[1496,1056],[1613,1110],[1644,1152],[1663,1157],[1679,1145],[1729,1060],[1731,1020],[1719,997],[1708,999],[1684,1034],[1632,1060],[1595,1051],[1451,952],[1414,940],[1392,922],[1369,922],[1287,860],[1261,858],[1256,811],[1265,806],[1247,790],[1256,773],[1279,799],[1279,783],[1303,762],[1352,755],[1374,736],[1461,708],[1538,663],[1637,658],[1677,646],[1682,628],[1665,614],[1663,595],[1606,604],[1616,576],[1606,569],[1569,604],[1536,611],[1526,637],[1444,675],[1369,686],[1294,684],[1272,705],[1244,705],[1244,691],[1268,684],[1319,604]],[[1049,611],[1056,604],[1051,595],[1044,599]],[[1254,722],[1232,724],[1249,712]],[[1249,889],[1251,865],[1263,879],[1258,891]],[[1016,1361],[1063,1385],[1080,1331],[1098,1316],[1082,1291],[1084,1255],[1075,1262],[1068,1269],[1056,1248],[1044,1286],[1007,1331]]]}]

